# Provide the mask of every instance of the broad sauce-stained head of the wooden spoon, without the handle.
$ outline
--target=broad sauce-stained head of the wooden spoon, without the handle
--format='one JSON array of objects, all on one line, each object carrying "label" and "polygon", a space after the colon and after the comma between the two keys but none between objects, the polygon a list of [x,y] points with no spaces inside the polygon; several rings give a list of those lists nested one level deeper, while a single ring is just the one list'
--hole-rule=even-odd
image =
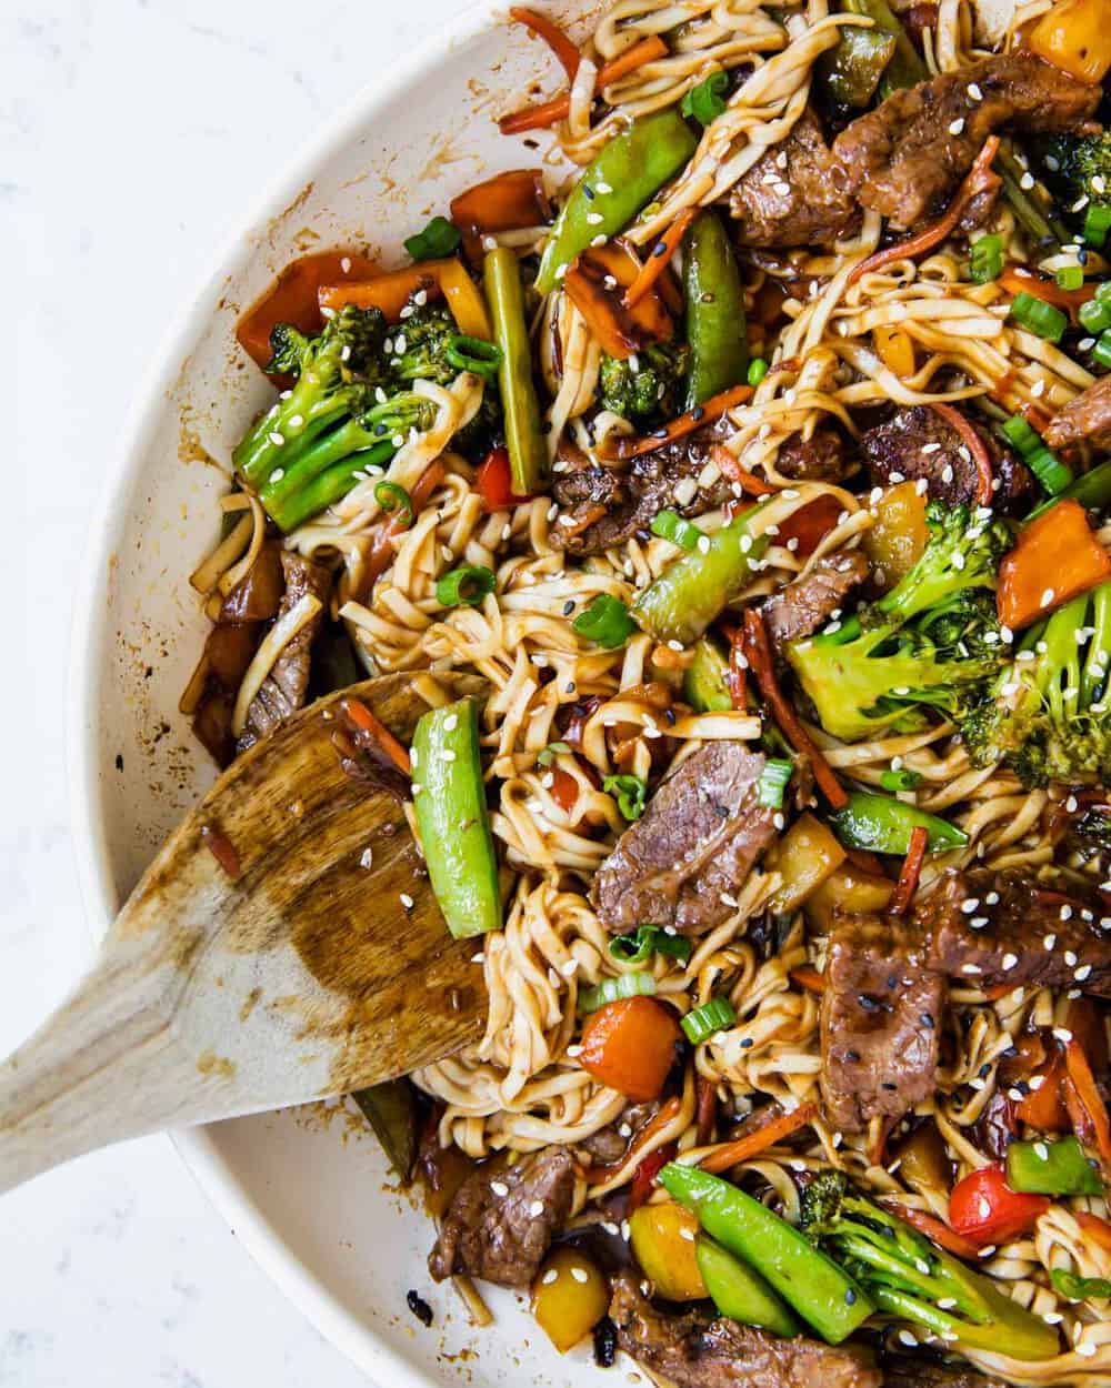
[{"label": "broad sauce-stained head of the wooden spoon, without the handle", "polygon": [[[486,687],[442,683],[453,698]],[[235,1112],[392,1078],[482,1030],[481,941],[450,937],[403,805],[349,776],[333,744],[350,697],[407,744],[426,709],[410,686],[365,680],[239,758],[108,936],[121,967],[157,976],[175,1051],[240,1095]]]}]

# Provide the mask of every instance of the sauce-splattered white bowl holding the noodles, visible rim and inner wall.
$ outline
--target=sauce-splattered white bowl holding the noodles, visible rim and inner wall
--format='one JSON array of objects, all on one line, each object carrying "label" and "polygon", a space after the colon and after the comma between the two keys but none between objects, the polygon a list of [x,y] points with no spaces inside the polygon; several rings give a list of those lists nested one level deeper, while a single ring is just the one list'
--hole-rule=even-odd
[{"label": "sauce-splattered white bowl holding the noodles, visible rim and inner wall", "polygon": [[[206,633],[187,575],[214,541],[226,489],[204,452],[226,462],[269,391],[235,347],[239,308],[307,250],[365,243],[397,262],[401,239],[453,193],[536,162],[492,115],[540,72],[554,76],[540,46],[506,29],[489,0],[432,35],[296,160],[156,358],[76,604],[72,809],[97,930],[214,775],[178,698]],[[328,1119],[319,1108],[262,1115],[176,1142],[242,1242],[335,1345],[383,1385],[460,1373],[476,1388],[597,1381],[587,1349],[557,1356],[521,1298],[493,1298],[496,1327],[474,1331],[453,1291],[432,1285],[432,1226],[389,1190],[375,1141],[343,1109]],[[406,1309],[411,1287],[436,1312],[432,1330]]]}]

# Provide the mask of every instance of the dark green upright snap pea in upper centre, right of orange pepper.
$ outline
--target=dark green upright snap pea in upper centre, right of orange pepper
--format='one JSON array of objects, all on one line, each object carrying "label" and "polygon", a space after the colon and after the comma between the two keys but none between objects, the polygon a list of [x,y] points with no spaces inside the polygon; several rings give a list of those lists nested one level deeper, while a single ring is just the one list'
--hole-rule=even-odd
[{"label": "dark green upright snap pea in upper centre, right of orange pepper", "polygon": [[744,287],[717,212],[699,212],[683,237],[683,298],[690,347],[683,409],[693,409],[749,371]]}]

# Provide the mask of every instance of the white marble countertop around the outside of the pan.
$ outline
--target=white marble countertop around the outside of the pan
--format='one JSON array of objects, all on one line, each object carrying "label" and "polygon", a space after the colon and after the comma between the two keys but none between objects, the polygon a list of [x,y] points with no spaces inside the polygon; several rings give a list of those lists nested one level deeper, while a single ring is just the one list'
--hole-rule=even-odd
[{"label": "white marble countertop around the outside of the pan", "polygon": [[[0,0],[0,1053],[89,958],[68,830],[71,600],[164,318],[315,122],[460,0]],[[285,133],[283,133],[285,132]],[[357,1388],[167,1138],[0,1201],[3,1388]]]}]

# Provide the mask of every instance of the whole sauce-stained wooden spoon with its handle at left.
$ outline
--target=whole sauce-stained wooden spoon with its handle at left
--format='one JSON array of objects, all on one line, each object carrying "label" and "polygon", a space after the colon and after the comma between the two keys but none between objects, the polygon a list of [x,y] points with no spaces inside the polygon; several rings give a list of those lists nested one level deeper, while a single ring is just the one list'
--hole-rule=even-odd
[{"label": "whole sauce-stained wooden spoon with its handle at left", "polygon": [[401,804],[332,741],[356,697],[408,743],[426,709],[410,684],[312,704],[171,834],[92,972],[0,1065],[0,1191],[157,1128],[393,1078],[481,1034],[481,944],[450,937]]}]

